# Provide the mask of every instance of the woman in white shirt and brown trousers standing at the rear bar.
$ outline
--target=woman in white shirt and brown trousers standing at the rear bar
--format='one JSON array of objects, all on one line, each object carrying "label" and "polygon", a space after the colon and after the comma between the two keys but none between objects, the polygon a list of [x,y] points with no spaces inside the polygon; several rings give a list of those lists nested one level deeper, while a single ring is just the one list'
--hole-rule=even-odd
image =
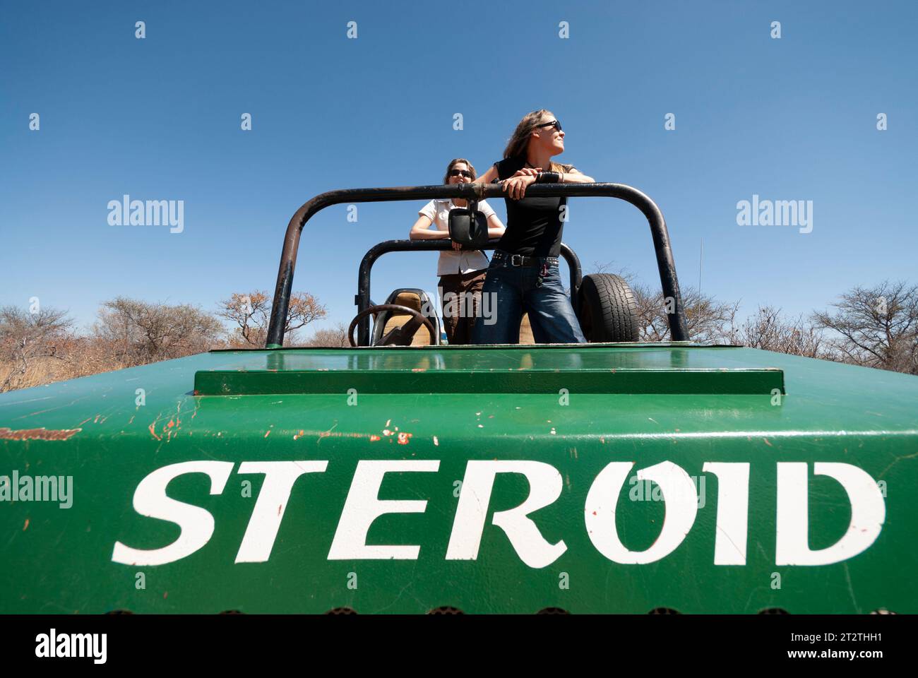
[{"label": "woman in white shirt and brown trousers standing at the rear bar", "polygon": [[[471,184],[475,181],[475,167],[465,158],[453,158],[446,167],[444,184]],[[450,237],[450,209],[464,208],[466,201],[456,199],[431,200],[419,211],[418,220],[411,227],[411,240],[446,240]],[[504,234],[504,224],[498,219],[486,200],[478,201],[478,209],[487,218],[487,235],[499,238]],[[431,229],[431,224],[435,228]],[[440,276],[440,295],[446,340],[450,344],[470,344],[472,328],[481,305],[481,287],[487,273],[487,256],[479,250],[463,250],[453,243],[452,251],[440,253],[437,275]]]}]

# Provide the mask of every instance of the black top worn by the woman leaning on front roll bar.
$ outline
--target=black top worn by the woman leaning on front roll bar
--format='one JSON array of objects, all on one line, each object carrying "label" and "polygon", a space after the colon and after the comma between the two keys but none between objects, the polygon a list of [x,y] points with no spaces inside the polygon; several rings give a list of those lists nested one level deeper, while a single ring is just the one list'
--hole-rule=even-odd
[{"label": "black top worn by the woman leaning on front roll bar", "polygon": [[[504,158],[494,164],[498,179],[507,179],[526,166],[526,158]],[[564,165],[570,171],[573,165]],[[547,168],[545,169],[547,171]],[[530,198],[521,200],[504,198],[507,204],[507,231],[498,243],[498,249],[509,254],[524,256],[558,256],[561,254],[561,206],[567,198]]]}]

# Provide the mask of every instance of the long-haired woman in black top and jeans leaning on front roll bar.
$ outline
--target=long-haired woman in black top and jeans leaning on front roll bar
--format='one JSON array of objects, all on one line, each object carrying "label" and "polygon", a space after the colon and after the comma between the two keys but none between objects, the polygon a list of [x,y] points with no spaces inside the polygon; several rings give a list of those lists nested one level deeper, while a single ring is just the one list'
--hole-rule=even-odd
[{"label": "long-haired woman in black top and jeans leaning on front roll bar", "polygon": [[[532,111],[513,132],[504,159],[479,181],[495,179],[507,194],[507,230],[491,257],[482,294],[493,294],[493,322],[478,318],[476,344],[517,344],[523,313],[529,313],[537,344],[584,343],[580,323],[558,275],[563,212],[567,198],[526,198],[535,183],[588,184],[593,178],[552,156],[564,153],[565,133],[551,111]],[[494,304],[492,304],[492,307]]]}]

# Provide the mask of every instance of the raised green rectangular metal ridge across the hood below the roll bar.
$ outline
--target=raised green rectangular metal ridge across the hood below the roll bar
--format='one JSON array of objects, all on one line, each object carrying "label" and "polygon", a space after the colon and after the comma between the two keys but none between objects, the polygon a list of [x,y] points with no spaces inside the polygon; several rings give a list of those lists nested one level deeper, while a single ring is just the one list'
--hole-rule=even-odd
[{"label": "raised green rectangular metal ridge across the hood below the roll bar", "polygon": [[[259,393],[759,393],[784,392],[776,367],[688,367],[684,351],[530,348],[446,350],[431,356],[364,349],[341,356],[248,356],[233,369],[199,370],[196,395]],[[336,359],[339,358],[339,359]],[[696,361],[697,362],[697,361]]]}]

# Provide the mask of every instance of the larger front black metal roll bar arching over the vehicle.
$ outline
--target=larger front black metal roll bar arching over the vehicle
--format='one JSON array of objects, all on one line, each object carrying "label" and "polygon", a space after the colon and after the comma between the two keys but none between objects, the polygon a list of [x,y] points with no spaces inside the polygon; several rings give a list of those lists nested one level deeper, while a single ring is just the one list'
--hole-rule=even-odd
[{"label": "larger front black metal roll bar arching over the vehicle", "polygon": [[[526,195],[534,198],[619,198],[640,209],[650,224],[654,240],[656,266],[660,271],[660,285],[664,299],[673,299],[672,312],[666,314],[669,333],[673,341],[688,341],[689,331],[682,307],[682,296],[676,276],[676,264],[666,231],[666,220],[655,202],[633,186],[624,184],[534,184],[526,189]],[[421,200],[432,198],[462,198],[482,200],[503,198],[499,184],[453,184],[452,186],[394,186],[391,188],[345,188],[321,193],[305,203],[287,224],[284,249],[277,271],[277,285],[274,287],[274,301],[271,307],[271,323],[268,326],[266,348],[281,348],[284,345],[284,328],[293,275],[297,266],[299,236],[306,222],[320,209],[331,205],[354,202],[389,202],[394,200]],[[423,242],[423,241],[419,241]],[[572,290],[573,292],[573,290]],[[363,339],[363,328],[361,328]]]}]

